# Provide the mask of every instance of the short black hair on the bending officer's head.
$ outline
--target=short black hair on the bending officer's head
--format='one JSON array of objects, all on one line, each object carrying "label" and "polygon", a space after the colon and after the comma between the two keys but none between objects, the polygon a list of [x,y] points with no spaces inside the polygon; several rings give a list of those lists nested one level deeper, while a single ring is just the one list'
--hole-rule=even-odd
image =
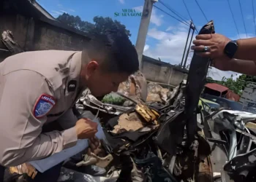
[{"label": "short black hair on the bending officer's head", "polygon": [[91,33],[85,51],[104,71],[134,74],[139,69],[138,53],[124,31]]}]

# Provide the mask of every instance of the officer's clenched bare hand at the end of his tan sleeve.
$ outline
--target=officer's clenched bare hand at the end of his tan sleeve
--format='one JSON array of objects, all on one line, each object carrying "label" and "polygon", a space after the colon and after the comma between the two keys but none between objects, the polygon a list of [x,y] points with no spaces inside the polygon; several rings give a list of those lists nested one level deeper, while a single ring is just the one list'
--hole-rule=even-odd
[{"label": "officer's clenched bare hand at the end of his tan sleeve", "polygon": [[75,124],[75,130],[78,135],[78,139],[93,138],[97,130],[98,124],[92,122],[91,119],[82,118]]}]

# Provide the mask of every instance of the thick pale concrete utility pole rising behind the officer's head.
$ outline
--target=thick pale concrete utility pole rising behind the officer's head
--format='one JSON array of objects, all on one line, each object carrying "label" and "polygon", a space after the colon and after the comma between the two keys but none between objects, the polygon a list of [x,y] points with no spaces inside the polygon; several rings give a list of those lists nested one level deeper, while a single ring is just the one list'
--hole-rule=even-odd
[{"label": "thick pale concrete utility pole rising behind the officer's head", "polygon": [[154,2],[157,2],[157,1],[158,0],[145,0],[143,12],[141,15],[140,28],[139,28],[138,37],[137,37],[136,46],[135,46],[138,52],[140,71],[142,68],[142,56],[143,56],[143,50],[146,43],[146,36],[148,33],[148,25],[150,22],[151,12],[153,9]]}]

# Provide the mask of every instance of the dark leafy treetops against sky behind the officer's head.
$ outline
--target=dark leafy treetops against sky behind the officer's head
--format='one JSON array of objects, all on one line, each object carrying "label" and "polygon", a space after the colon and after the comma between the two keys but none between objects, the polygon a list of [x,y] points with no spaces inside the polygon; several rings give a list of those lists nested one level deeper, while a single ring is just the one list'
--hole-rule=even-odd
[{"label": "dark leafy treetops against sky behind the officer's head", "polygon": [[103,33],[109,29],[124,31],[127,36],[132,36],[129,30],[126,29],[126,26],[118,22],[117,20],[112,20],[111,17],[94,17],[94,23],[89,23],[87,21],[81,20],[79,16],[69,15],[68,13],[63,13],[57,17],[61,23],[69,25],[73,28],[78,29],[79,31],[84,32],[97,32]]}]

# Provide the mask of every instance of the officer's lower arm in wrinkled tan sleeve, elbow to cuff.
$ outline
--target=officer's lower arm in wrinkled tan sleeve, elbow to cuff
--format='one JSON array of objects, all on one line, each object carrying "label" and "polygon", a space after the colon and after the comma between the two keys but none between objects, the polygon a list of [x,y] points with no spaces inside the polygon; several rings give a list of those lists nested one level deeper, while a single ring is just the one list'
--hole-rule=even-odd
[{"label": "officer's lower arm in wrinkled tan sleeve, elbow to cuff", "polygon": [[1,164],[9,167],[43,159],[63,149],[75,146],[77,141],[75,127],[63,132],[45,132],[39,135],[33,143],[27,143],[26,146],[20,146],[19,149],[2,146],[4,152],[1,157]]}]

